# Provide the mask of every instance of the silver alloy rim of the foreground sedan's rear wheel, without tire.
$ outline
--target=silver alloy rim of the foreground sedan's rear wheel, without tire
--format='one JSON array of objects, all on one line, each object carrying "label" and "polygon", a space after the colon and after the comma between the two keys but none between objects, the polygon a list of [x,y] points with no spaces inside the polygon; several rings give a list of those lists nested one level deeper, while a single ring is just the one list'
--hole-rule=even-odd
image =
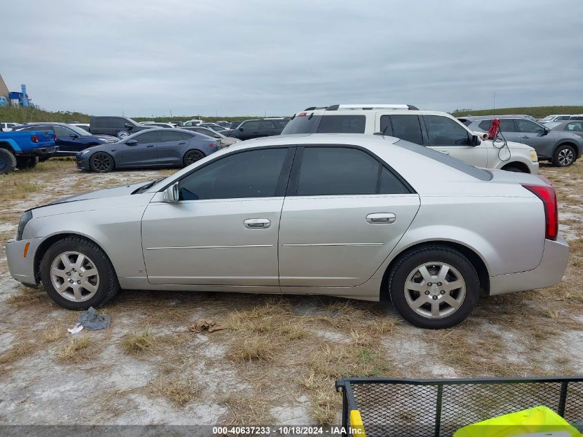
[{"label": "silver alloy rim of the foreground sedan's rear wheel, without tire", "polygon": [[445,318],[462,307],[466,282],[455,267],[444,262],[426,262],[409,273],[405,299],[424,318]]}]

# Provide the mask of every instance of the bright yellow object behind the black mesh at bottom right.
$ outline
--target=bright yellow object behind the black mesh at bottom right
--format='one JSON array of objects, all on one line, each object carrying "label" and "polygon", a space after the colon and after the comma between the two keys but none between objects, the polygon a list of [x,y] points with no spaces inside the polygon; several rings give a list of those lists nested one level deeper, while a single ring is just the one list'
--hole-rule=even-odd
[{"label": "bright yellow object behind the black mesh at bottom right", "polygon": [[548,407],[534,407],[474,423],[455,431],[453,437],[518,437],[525,434],[559,432],[581,437],[581,433]]}]

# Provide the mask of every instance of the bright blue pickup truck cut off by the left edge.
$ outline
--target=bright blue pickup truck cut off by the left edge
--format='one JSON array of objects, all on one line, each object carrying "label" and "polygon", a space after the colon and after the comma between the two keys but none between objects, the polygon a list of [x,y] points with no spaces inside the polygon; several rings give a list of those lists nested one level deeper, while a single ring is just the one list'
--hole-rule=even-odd
[{"label": "bright blue pickup truck cut off by the left edge", "polygon": [[0,173],[32,168],[39,158],[54,155],[57,150],[52,130],[0,132]]}]

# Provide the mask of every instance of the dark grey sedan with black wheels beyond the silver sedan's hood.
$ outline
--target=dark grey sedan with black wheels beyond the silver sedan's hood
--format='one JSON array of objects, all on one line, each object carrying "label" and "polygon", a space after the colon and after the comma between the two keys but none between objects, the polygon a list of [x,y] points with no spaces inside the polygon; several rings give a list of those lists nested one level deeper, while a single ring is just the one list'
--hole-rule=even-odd
[{"label": "dark grey sedan with black wheels beyond the silver sedan's hood", "polygon": [[188,166],[221,147],[221,142],[188,130],[141,130],[114,144],[77,153],[77,168],[108,173],[114,168]]}]

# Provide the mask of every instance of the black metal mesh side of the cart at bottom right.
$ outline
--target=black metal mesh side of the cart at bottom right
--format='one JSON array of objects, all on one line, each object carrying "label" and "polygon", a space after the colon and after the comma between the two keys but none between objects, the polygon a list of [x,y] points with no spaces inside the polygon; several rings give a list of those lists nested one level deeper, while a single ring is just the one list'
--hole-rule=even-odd
[{"label": "black metal mesh side of the cart at bottom right", "polygon": [[[343,378],[342,425],[366,437],[442,437],[488,418],[544,405],[583,420],[583,376],[564,378]],[[361,423],[362,420],[362,423]],[[348,431],[345,436],[353,434]]]}]

